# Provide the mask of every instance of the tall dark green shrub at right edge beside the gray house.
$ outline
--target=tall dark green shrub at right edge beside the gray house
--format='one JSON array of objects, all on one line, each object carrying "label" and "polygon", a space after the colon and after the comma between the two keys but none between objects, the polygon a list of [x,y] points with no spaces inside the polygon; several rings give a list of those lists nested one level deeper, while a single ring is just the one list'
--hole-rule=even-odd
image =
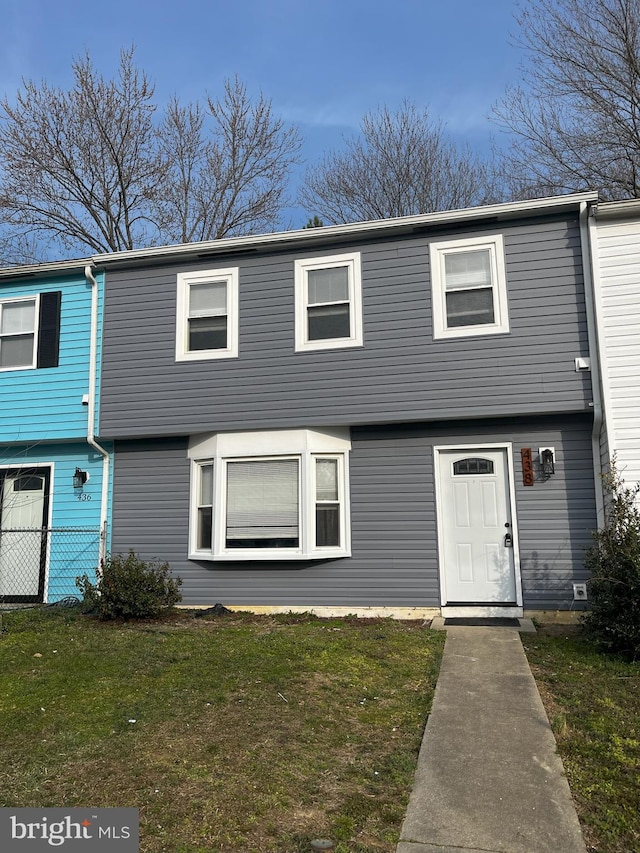
[{"label": "tall dark green shrub at right edge beside the gray house", "polygon": [[640,486],[625,486],[615,464],[603,476],[607,496],[606,521],[593,534],[586,567],[591,612],[583,625],[602,646],[636,658],[640,656]]}]

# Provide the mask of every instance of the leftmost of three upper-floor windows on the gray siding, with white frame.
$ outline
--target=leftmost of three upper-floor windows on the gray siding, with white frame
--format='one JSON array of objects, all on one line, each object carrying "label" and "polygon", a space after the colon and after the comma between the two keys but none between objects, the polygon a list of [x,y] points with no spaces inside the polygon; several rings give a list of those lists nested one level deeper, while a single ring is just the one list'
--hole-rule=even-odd
[{"label": "leftmost of three upper-floor windows on the gray siding, with white frame", "polygon": [[238,268],[178,273],[176,360],[238,355]]}]

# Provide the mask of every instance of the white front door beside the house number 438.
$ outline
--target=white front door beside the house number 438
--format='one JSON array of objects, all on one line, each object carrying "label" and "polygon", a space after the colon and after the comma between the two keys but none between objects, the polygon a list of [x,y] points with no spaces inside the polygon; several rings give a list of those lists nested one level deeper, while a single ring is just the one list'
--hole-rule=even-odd
[{"label": "white front door beside the house number 438", "polygon": [[516,605],[506,449],[438,458],[443,606]]}]

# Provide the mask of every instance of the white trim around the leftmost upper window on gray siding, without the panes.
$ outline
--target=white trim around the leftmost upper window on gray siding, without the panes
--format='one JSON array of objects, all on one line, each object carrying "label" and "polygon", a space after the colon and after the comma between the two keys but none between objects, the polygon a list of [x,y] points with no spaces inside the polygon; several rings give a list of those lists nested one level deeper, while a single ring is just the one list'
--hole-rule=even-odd
[{"label": "white trim around the leftmost upper window on gray siding, without the panes", "polygon": [[[239,269],[178,273],[176,301],[176,361],[209,361],[238,356]],[[192,284],[225,281],[227,285],[227,346],[224,349],[189,352],[189,288]]]}]

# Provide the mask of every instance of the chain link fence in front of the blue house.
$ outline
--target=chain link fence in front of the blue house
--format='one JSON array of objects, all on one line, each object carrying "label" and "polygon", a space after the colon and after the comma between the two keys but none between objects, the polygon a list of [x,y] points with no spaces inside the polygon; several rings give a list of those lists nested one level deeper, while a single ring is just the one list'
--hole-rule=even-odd
[{"label": "chain link fence in front of the blue house", "polygon": [[0,606],[80,598],[76,578],[95,579],[101,541],[96,527],[0,528]]}]

